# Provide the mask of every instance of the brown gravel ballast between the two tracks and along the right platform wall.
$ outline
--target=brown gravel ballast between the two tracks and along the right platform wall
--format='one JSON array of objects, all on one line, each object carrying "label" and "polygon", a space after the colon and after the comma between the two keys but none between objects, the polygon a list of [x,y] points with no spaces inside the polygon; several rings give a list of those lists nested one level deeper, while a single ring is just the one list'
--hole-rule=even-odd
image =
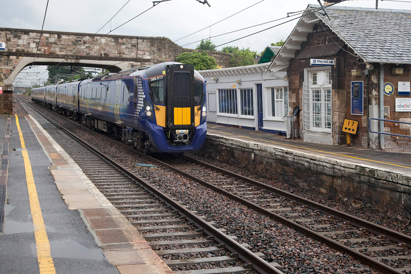
[{"label": "brown gravel ballast between the two tracks and along the right platform wall", "polygon": [[[17,104],[15,104],[17,105]],[[16,106],[18,108],[18,106]],[[174,199],[181,201],[183,205],[192,210],[197,210],[199,215],[207,217],[208,221],[216,223],[217,227],[225,228],[228,233],[238,237],[239,242],[247,243],[254,252],[262,252],[265,259],[269,262],[276,262],[281,266],[285,273],[323,273],[323,274],[364,274],[376,273],[368,267],[352,261],[352,258],[341,252],[334,251],[320,242],[314,241],[304,235],[286,228],[279,223],[271,221],[266,217],[249,210],[227,197],[216,194],[202,185],[187,181],[179,175],[173,175],[168,170],[159,167],[154,170],[135,170],[134,163],[149,163],[139,158],[137,154],[127,152],[117,145],[108,144],[107,141],[101,142],[99,137],[85,130],[74,130],[73,125],[68,122],[67,127],[72,131],[81,132],[84,139],[93,144],[103,153],[111,155],[112,158],[121,161],[138,176],[151,181],[162,191],[168,193]],[[193,156],[193,155],[191,155]],[[199,157],[196,157],[199,158]],[[233,172],[251,177],[255,180],[270,183],[276,187],[291,191],[305,198],[319,203],[327,204],[339,210],[349,212],[360,218],[378,222],[383,226],[397,229],[406,234],[409,233],[407,223],[392,221],[392,216],[385,216],[382,213],[371,212],[368,208],[355,208],[333,203],[325,200],[314,193],[306,193],[304,190],[294,188],[291,185],[281,182],[273,182],[266,178],[259,178],[252,172],[244,172],[236,166],[227,163],[218,163],[214,160],[206,160],[212,164],[222,166]]]}]

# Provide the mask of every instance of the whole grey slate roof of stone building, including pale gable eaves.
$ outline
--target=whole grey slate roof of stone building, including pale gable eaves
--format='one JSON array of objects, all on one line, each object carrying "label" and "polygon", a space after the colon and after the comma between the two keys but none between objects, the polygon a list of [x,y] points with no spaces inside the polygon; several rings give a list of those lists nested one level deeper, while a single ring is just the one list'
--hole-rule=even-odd
[{"label": "whole grey slate roof of stone building, including pale gable eaves", "polygon": [[328,26],[365,63],[411,64],[411,10],[308,5],[269,69],[283,70],[316,23]]}]

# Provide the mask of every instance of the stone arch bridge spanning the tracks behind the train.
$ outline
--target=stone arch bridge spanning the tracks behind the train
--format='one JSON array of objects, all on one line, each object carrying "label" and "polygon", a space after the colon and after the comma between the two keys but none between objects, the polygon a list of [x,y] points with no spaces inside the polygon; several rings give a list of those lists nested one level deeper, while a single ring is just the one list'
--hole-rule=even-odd
[{"label": "stone arch bridge spanning the tracks behind the train", "polygon": [[[41,34],[41,35],[40,35]],[[40,41],[40,44],[39,44]],[[174,61],[191,51],[165,37],[101,35],[60,31],[0,28],[0,114],[13,111],[13,81],[19,72],[32,65],[62,65],[106,68],[111,72]],[[2,49],[2,48],[1,48]],[[208,52],[222,67],[229,55]]]}]

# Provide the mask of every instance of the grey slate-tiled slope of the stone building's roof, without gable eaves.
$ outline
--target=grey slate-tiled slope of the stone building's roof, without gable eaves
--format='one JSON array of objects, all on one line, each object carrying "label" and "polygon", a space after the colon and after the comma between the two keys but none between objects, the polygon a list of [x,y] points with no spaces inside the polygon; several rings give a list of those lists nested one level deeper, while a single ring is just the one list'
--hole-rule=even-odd
[{"label": "grey slate-tiled slope of the stone building's roof, without gable eaves", "polygon": [[[308,8],[319,8],[308,5]],[[317,16],[366,63],[411,64],[411,11],[331,6]]]}]

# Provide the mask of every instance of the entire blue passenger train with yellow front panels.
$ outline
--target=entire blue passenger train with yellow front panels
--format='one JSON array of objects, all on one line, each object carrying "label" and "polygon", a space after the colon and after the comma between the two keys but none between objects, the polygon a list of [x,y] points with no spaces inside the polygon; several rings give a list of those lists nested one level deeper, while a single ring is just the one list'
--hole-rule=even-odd
[{"label": "entire blue passenger train with yellow front panels", "polygon": [[185,153],[206,141],[206,82],[164,62],[34,88],[31,100],[146,153]]}]

